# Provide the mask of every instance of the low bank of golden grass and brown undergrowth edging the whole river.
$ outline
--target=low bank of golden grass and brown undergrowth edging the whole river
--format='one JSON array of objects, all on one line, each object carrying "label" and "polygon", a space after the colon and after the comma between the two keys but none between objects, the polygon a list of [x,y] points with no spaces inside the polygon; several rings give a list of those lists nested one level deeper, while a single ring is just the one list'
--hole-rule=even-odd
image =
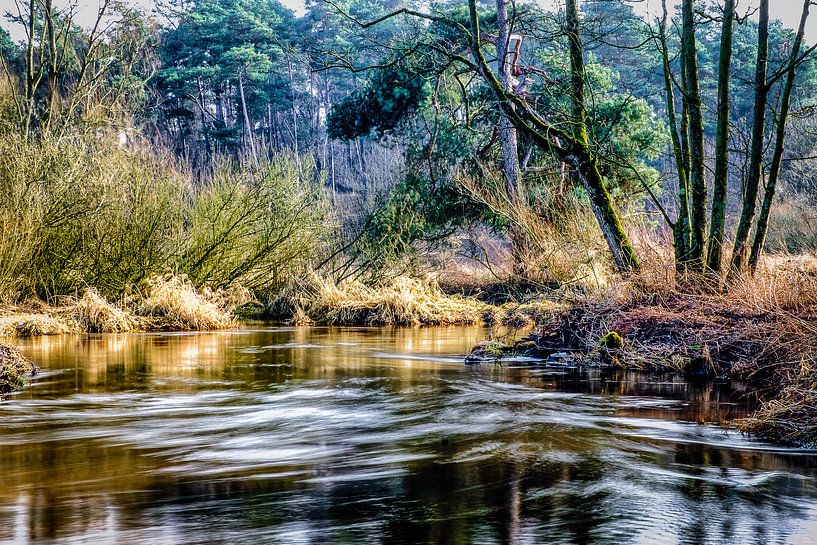
[{"label": "low bank of golden grass and brown undergrowth edging the whole river", "polygon": [[[733,377],[762,401],[735,424],[779,443],[817,444],[817,284],[789,267],[770,279],[736,283],[713,294],[676,288],[654,275],[623,279],[603,292],[534,294],[523,302],[448,294],[437,284],[398,278],[378,286],[312,278],[257,303],[262,317],[293,325],[487,324],[509,329],[472,356],[508,353],[546,359],[567,354],[582,366]],[[553,294],[551,294],[553,296]],[[114,304],[94,290],[51,306],[0,309],[0,334],[214,330],[239,326],[234,314],[251,298],[196,290],[184,279],[153,280]],[[492,304],[497,303],[497,304]],[[250,305],[252,306],[252,305]],[[247,308],[247,307],[245,307]],[[20,384],[11,381],[10,384]]]}]

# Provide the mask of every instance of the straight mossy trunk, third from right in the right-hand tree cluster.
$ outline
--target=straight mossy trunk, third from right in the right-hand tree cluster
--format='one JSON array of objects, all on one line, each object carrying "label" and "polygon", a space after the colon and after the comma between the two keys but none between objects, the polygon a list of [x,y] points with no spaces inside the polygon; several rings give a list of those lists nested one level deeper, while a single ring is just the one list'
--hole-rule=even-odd
[{"label": "straight mossy trunk, third from right in the right-hand tree cluster", "polygon": [[715,135],[715,180],[712,191],[712,217],[707,245],[707,272],[717,277],[723,259],[723,230],[726,224],[726,193],[729,181],[729,76],[732,67],[732,28],[735,0],[726,0],[721,25],[721,49],[718,60],[718,125]]}]

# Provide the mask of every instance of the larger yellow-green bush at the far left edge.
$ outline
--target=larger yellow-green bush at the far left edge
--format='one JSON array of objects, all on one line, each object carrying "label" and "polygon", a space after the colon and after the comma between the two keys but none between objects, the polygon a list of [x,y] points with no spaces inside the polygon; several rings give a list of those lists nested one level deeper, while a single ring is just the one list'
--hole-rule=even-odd
[{"label": "larger yellow-green bush at the far left edge", "polygon": [[172,261],[187,179],[104,138],[0,141],[0,289],[119,293]]}]

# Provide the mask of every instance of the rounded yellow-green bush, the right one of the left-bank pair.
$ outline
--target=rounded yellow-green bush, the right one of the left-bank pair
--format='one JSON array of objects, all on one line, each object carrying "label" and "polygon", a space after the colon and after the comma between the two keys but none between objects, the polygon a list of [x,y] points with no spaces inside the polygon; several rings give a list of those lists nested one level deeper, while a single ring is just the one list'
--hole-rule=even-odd
[{"label": "rounded yellow-green bush, the right one of the left-bank pair", "polygon": [[179,269],[215,289],[267,289],[306,270],[326,218],[321,188],[299,174],[311,169],[285,155],[249,167],[219,161],[188,208]]}]

